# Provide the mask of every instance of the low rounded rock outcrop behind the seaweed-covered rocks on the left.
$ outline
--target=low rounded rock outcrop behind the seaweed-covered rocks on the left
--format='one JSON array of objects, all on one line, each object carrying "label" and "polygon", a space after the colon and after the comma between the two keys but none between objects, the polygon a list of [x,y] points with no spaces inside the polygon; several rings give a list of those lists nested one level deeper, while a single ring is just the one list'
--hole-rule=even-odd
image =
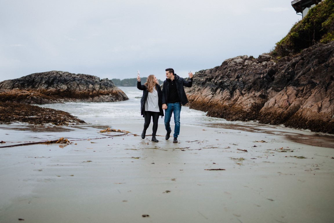
[{"label": "low rounded rock outcrop behind the seaweed-covered rocks on the left", "polygon": [[[100,80],[92,75],[62,71],[35,73],[6,80],[0,82],[0,89],[37,92],[52,98],[55,102],[116,102],[129,99],[108,79]],[[41,103],[44,103],[43,100]]]}]

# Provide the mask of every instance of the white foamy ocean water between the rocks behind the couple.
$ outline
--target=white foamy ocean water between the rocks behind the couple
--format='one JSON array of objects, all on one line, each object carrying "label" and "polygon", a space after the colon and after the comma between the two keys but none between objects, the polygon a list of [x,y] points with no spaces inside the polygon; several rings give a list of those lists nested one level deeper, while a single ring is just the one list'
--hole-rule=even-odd
[{"label": "white foamy ocean water between the rocks behind the couple", "polygon": [[[110,123],[144,123],[140,115],[140,99],[143,94],[137,87],[120,87],[129,97],[127,101],[121,102],[67,102],[64,104],[38,105],[43,108],[62,110],[94,125],[108,125]],[[159,119],[163,123],[163,119]],[[174,123],[173,116],[171,124]],[[206,116],[206,112],[189,109],[187,106],[181,108],[181,124],[183,125],[205,125],[208,123],[230,123],[221,118]]]}]

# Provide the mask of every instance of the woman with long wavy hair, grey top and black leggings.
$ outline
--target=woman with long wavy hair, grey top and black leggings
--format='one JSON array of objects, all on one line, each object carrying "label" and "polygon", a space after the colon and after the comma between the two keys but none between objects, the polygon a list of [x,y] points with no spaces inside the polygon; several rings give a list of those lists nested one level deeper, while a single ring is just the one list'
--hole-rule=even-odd
[{"label": "woman with long wavy hair, grey top and black leggings", "polygon": [[141,85],[139,75],[137,76],[137,88],[143,91],[143,97],[140,100],[141,104],[141,115],[145,118],[144,130],[142,132],[142,139],[145,138],[146,130],[151,123],[151,117],[153,118],[152,128],[152,141],[159,142],[155,135],[158,129],[158,119],[161,115],[164,116],[162,110],[162,99],[161,99],[161,88],[158,79],[154,75],[150,75],[144,85]]}]

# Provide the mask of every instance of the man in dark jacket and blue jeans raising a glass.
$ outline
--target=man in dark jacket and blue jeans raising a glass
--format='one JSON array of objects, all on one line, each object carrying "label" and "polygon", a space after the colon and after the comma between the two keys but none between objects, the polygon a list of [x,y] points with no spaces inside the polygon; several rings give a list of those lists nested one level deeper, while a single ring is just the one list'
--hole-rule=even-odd
[{"label": "man in dark jacket and blue jeans raising a glass", "polygon": [[172,68],[166,69],[166,80],[164,81],[162,88],[162,109],[165,109],[165,128],[167,131],[165,139],[169,139],[170,133],[170,118],[172,113],[174,114],[174,143],[177,143],[177,137],[180,134],[180,112],[181,104],[188,103],[186,93],[183,86],[190,88],[192,86],[193,74],[189,73],[189,81],[180,78],[174,73]]}]

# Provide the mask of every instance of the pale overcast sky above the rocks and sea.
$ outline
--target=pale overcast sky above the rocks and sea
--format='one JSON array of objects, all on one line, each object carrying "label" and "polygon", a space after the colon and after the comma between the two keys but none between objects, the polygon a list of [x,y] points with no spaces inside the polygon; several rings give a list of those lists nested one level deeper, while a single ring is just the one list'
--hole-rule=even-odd
[{"label": "pale overcast sky above the rocks and sea", "polygon": [[52,70],[186,77],[269,52],[301,18],[291,0],[1,0],[0,81]]}]

